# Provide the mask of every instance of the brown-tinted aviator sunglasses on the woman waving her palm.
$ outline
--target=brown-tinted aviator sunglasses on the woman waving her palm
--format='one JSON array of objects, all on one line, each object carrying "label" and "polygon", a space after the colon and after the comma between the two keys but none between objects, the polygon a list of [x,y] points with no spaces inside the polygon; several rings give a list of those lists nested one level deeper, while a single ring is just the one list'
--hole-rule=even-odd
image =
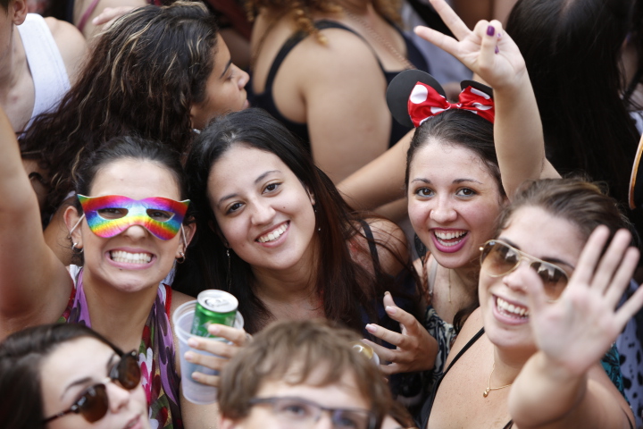
[{"label": "brown-tinted aviator sunglasses on the woman waving her palm", "polygon": [[489,240],[480,251],[481,271],[491,277],[502,277],[518,268],[522,259],[528,261],[530,267],[539,274],[549,298],[558,298],[569,281],[567,273],[559,266],[532,257],[504,241]]}]

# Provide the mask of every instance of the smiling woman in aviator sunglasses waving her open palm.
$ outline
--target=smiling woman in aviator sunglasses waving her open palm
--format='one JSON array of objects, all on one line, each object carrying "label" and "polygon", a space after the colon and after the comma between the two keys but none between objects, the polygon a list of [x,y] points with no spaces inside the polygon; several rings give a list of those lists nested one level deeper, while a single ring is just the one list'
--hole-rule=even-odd
[{"label": "smiling woman in aviator sunglasses waving her open palm", "polygon": [[[480,256],[480,309],[463,325],[423,427],[633,427],[599,361],[643,290],[614,199],[586,181],[525,184]],[[475,422],[472,421],[475,416]]]}]

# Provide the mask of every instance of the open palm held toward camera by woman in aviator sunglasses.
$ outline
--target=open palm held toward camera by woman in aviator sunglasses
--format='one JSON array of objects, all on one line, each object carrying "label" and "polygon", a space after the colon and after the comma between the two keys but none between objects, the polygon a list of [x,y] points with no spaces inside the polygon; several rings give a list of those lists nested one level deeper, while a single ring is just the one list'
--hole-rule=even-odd
[{"label": "open palm held toward camera by woman in aviator sunglasses", "polygon": [[567,374],[585,374],[643,306],[643,288],[639,288],[616,308],[639,261],[639,250],[629,247],[630,232],[622,230],[601,257],[608,234],[605,226],[591,234],[570,282],[554,302],[547,301],[538,275],[524,271],[531,277],[524,284],[536,344]]}]

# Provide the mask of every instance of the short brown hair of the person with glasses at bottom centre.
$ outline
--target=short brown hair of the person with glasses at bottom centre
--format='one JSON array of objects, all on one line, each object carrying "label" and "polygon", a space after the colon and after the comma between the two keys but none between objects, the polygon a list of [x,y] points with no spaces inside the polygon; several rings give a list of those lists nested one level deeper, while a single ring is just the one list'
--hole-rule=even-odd
[{"label": "short brown hair of the person with glasses at bottom centre", "polygon": [[353,344],[360,340],[357,333],[329,321],[289,320],[271,324],[222,371],[221,415],[234,420],[248,416],[250,401],[267,382],[324,387],[342,383],[342,376],[350,374],[356,390],[381,422],[393,400],[377,366],[353,349]]}]

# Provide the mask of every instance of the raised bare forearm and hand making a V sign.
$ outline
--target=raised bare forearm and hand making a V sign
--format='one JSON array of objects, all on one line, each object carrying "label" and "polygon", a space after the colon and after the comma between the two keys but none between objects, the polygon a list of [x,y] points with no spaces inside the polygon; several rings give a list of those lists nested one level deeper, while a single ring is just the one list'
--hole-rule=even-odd
[{"label": "raised bare forearm and hand making a V sign", "polygon": [[526,180],[558,177],[545,157],[545,140],[536,97],[514,40],[498,21],[480,21],[470,30],[444,0],[431,0],[455,35],[418,27],[416,33],[455,55],[494,89],[494,139],[508,196]]}]

